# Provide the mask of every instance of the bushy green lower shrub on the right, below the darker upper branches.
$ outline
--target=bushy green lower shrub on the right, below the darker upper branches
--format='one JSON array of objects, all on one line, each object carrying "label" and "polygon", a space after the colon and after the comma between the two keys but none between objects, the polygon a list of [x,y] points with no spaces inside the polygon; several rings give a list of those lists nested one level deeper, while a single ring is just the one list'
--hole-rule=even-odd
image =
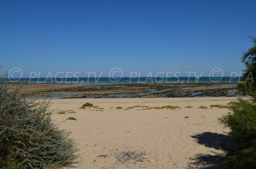
[{"label": "bushy green lower shrub on the right, below the darker upper branches", "polygon": [[224,127],[230,128],[229,136],[234,140],[225,161],[230,169],[252,169],[256,166],[256,104],[238,98],[231,103],[232,112],[219,118]]}]

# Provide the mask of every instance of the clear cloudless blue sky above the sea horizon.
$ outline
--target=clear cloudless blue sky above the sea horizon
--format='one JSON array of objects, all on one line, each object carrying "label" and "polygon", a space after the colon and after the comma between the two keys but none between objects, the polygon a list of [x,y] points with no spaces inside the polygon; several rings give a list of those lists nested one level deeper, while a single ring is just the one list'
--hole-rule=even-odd
[{"label": "clear cloudless blue sky above the sea horizon", "polygon": [[[1,0],[1,72],[240,72],[256,0]],[[207,76],[207,74],[204,74]]]}]

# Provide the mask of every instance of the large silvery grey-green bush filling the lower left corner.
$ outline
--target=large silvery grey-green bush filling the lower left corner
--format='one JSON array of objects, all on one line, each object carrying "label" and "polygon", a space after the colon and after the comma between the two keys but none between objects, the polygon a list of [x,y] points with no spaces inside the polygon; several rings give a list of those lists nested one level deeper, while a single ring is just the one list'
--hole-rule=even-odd
[{"label": "large silvery grey-green bush filling the lower left corner", "polygon": [[0,85],[0,168],[72,166],[78,157],[76,143],[70,132],[52,121],[50,101],[25,97],[22,84],[5,81]]}]

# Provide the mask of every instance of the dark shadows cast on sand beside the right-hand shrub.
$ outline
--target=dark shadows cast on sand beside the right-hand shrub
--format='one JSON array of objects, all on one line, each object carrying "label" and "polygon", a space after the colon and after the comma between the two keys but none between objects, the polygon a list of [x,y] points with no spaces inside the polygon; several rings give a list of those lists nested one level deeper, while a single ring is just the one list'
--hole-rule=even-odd
[{"label": "dark shadows cast on sand beside the right-hand shrub", "polygon": [[[201,134],[192,135],[196,142],[200,145],[214,148],[216,150],[229,149],[233,146],[233,142],[223,134],[204,132]],[[214,155],[197,154],[194,158],[189,158],[191,162],[188,164],[188,169],[223,169],[225,168],[222,159],[223,154],[212,151]]]}]

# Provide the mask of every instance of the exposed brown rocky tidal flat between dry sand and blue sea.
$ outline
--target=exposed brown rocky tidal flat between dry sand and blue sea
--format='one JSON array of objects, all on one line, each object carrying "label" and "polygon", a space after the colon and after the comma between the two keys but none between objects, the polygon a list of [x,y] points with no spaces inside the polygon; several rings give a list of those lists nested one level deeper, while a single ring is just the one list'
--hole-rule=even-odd
[{"label": "exposed brown rocky tidal flat between dry sand and blue sea", "polygon": [[33,98],[154,98],[244,96],[238,83],[25,83],[26,97]]}]

